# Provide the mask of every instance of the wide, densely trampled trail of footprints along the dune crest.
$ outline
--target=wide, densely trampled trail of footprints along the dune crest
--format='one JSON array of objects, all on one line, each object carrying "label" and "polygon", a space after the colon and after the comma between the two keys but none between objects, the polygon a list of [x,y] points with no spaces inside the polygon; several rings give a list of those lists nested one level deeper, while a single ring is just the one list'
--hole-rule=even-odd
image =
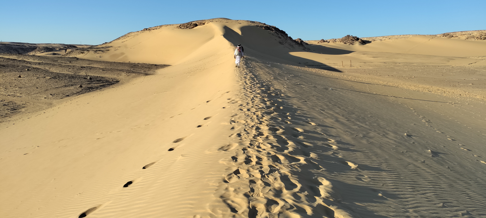
[{"label": "wide, densely trampled trail of footprints along the dune crest", "polygon": [[[323,177],[308,178],[312,171],[323,168],[312,161],[317,158],[306,149],[314,145],[305,142],[301,128],[284,130],[278,122],[291,119],[283,112],[279,90],[266,86],[265,81],[243,67],[236,69],[243,81],[240,98],[231,99],[239,112],[231,118],[231,130],[238,133],[238,143],[230,143],[219,151],[235,152],[226,159],[228,173],[220,198],[233,213],[231,217],[278,218],[318,215],[318,217],[355,217],[354,213],[339,205],[340,197],[332,191],[331,183]],[[277,122],[275,122],[277,121]],[[290,122],[287,122],[290,123]],[[316,125],[309,122],[309,125]],[[334,140],[324,145],[337,150]],[[347,162],[351,169],[358,168]],[[307,178],[299,180],[299,176]],[[314,174],[314,173],[312,173]]]}]

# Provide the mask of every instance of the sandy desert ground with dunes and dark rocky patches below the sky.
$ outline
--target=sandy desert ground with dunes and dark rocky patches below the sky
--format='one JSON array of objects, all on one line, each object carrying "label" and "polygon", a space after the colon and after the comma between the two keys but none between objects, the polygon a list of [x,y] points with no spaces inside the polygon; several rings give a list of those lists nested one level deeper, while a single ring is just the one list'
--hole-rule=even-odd
[{"label": "sandy desert ground with dunes and dark rocky patches below the sky", "polygon": [[302,41],[215,18],[9,43],[0,217],[484,217],[483,36]]}]

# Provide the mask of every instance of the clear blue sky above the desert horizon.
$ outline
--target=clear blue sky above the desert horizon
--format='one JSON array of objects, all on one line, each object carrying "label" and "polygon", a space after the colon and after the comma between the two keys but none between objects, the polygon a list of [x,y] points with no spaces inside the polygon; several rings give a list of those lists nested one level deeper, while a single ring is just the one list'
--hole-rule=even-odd
[{"label": "clear blue sky above the desert horizon", "polygon": [[486,0],[0,0],[3,42],[98,45],[143,28],[226,17],[304,40],[486,30]]}]

